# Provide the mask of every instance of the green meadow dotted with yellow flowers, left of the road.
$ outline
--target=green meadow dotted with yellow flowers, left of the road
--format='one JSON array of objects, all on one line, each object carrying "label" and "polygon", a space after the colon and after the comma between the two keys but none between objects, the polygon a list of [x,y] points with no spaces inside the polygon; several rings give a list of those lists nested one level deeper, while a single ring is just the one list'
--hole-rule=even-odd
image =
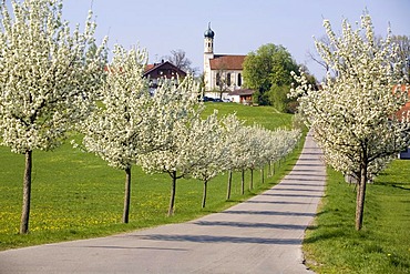
[{"label": "green meadow dotted with yellow flowers, left of the road", "polygon": [[[217,109],[221,115],[236,112],[247,124],[259,123],[267,129],[290,128],[291,124],[290,114],[277,113],[270,106],[207,103],[205,114],[212,113],[213,109]],[[203,210],[202,183],[193,179],[178,180],[175,215],[172,217],[166,217],[171,177],[167,174],[145,174],[134,166],[129,224],[121,223],[125,183],[123,171],[107,166],[93,154],[73,149],[69,141],[55,151],[34,151],[28,235],[19,234],[24,156],[0,146],[0,250],[104,236],[184,222],[222,211],[276,184],[291,170],[300,153],[301,142],[293,154],[276,164],[275,175],[266,179],[264,184],[259,172],[255,172],[254,190],[247,190],[245,195],[240,195],[239,173],[234,173],[229,201],[225,199],[227,175],[213,179]],[[247,172],[246,182],[249,181]]]}]

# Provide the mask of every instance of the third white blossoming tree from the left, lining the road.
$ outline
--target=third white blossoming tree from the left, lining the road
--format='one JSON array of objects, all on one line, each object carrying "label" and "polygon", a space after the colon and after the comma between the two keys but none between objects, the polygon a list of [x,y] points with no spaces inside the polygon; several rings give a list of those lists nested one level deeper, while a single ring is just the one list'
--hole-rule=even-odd
[{"label": "third white blossoming tree from the left, lining the road", "polygon": [[176,181],[189,174],[195,161],[191,153],[195,148],[189,139],[192,129],[203,110],[198,103],[198,85],[188,75],[175,85],[165,81],[156,90],[151,119],[151,152],[142,154],[139,163],[148,173],[167,173],[172,179],[168,216],[174,214]]}]

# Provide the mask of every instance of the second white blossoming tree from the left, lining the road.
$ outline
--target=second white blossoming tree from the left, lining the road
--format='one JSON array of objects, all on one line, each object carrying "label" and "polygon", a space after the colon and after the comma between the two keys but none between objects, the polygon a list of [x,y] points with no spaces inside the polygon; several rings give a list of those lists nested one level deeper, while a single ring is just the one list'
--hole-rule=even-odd
[{"label": "second white blossoming tree from the left, lining the road", "polygon": [[150,124],[145,115],[151,94],[143,78],[147,60],[145,51],[126,51],[115,45],[113,60],[99,91],[102,105],[85,120],[82,132],[85,150],[125,172],[123,223],[129,222],[131,168],[146,148]]}]

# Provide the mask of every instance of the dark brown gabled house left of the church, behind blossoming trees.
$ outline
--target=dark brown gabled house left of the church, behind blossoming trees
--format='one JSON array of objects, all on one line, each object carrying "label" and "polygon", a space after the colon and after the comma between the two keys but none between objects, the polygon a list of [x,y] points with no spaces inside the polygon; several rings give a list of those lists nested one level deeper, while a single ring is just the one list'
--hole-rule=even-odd
[{"label": "dark brown gabled house left of the church, behind blossoming trees", "polygon": [[150,88],[153,89],[158,87],[161,79],[174,79],[175,83],[177,83],[178,79],[184,79],[185,77],[185,71],[164,60],[161,63],[147,64],[144,72],[144,78],[150,79]]}]

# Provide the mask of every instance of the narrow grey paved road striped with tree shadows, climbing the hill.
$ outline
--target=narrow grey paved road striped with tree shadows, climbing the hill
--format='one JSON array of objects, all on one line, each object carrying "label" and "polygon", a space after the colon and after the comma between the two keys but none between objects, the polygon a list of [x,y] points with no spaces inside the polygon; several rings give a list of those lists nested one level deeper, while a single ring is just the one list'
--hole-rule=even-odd
[{"label": "narrow grey paved road striped with tree shadows, climbing the hill", "polygon": [[0,252],[0,273],[309,273],[301,241],[326,181],[309,134],[275,187],[222,213],[102,239]]}]

